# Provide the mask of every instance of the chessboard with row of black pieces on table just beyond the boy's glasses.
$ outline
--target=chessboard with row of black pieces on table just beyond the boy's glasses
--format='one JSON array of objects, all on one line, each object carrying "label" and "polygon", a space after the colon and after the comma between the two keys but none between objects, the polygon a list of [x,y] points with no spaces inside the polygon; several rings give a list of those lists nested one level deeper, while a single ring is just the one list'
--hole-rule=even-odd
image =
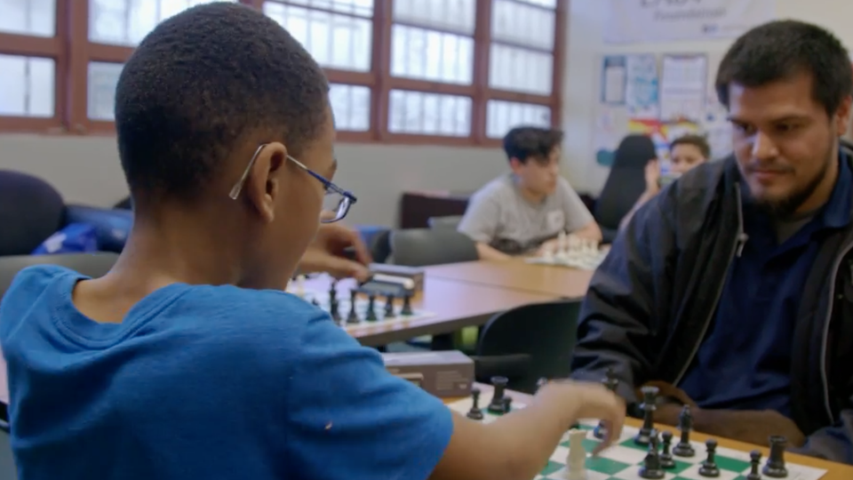
[{"label": "chessboard with row of black pieces on table just beyond the boy's glasses", "polygon": [[[364,298],[355,291],[342,289],[331,283],[328,292],[306,289],[300,281],[291,282],[287,292],[302,300],[323,308],[331,318],[343,328],[354,328],[364,325],[386,325],[411,322],[435,316],[434,313],[412,308],[410,298]],[[334,298],[334,301],[332,301]]]}]

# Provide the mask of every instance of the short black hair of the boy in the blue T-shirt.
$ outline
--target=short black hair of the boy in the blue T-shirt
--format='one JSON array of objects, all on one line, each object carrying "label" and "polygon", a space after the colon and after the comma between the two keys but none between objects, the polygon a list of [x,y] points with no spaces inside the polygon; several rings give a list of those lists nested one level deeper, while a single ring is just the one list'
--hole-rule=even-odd
[{"label": "short black hair of the boy in the blue T-shirt", "polygon": [[163,21],[116,87],[118,151],[134,204],[138,194],[197,196],[251,132],[268,132],[264,140],[299,158],[328,120],[328,92],[299,42],[248,6],[202,4]]}]

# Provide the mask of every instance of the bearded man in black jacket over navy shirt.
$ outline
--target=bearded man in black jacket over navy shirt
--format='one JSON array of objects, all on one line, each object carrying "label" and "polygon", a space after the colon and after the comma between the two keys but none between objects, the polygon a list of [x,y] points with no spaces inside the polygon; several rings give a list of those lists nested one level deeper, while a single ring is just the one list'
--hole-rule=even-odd
[{"label": "bearded man in black jacket over navy shirt", "polygon": [[774,21],[732,44],[715,89],[733,153],[665,188],[612,244],[573,377],[610,368],[629,404],[660,388],[660,422],[690,404],[698,431],[853,463],[851,85],[848,51],[817,26]]}]

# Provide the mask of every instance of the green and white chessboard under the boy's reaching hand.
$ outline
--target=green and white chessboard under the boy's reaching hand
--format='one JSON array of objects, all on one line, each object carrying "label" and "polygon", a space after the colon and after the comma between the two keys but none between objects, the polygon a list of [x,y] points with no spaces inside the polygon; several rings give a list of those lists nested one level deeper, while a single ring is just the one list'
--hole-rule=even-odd
[{"label": "green and white chessboard under the boy's reaching hand", "polygon": [[[483,391],[481,397],[481,405],[487,405],[491,397],[491,391]],[[460,400],[449,405],[451,409],[465,414],[471,409],[471,400]],[[513,403],[512,408],[524,408],[523,404]],[[483,421],[494,421],[498,417],[482,408],[485,415]],[[643,480],[639,475],[642,461],[646,456],[647,449],[640,445],[634,444],[634,436],[637,434],[637,428],[626,427],[622,431],[622,436],[619,441],[601,452],[597,457],[592,457],[588,452],[592,452],[595,445],[599,443],[598,439],[593,436],[593,429],[598,424],[595,421],[582,421],[581,428],[586,430],[586,440],[583,444],[587,452],[586,456],[586,480]],[[678,434],[673,429],[677,440]],[[703,460],[706,459],[706,448],[704,443],[692,442],[693,449],[696,450],[696,456],[685,459],[675,457],[675,468],[667,469],[664,480],[710,480],[706,476],[700,476],[698,469]],[[551,460],[545,468],[539,472],[533,480],[566,480],[566,460],[569,457],[569,433],[563,436],[562,442],[554,450],[551,455]],[[762,463],[764,460],[761,460]],[[746,475],[750,471],[749,452],[739,452],[724,447],[717,447],[716,462],[720,468],[720,476],[716,480],[745,480]],[[785,480],[819,480],[826,473],[826,470],[820,468],[806,467],[796,465],[791,462],[786,462],[788,476]],[[766,477],[767,480],[772,480]]]}]

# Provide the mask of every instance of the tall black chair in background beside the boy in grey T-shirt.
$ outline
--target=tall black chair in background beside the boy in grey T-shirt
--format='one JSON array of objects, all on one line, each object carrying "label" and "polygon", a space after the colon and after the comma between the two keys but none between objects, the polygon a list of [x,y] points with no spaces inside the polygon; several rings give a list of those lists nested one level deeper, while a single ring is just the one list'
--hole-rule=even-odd
[{"label": "tall black chair in background beside the boy in grey T-shirt", "polygon": [[619,143],[602,194],[595,201],[594,217],[602,228],[603,243],[613,242],[619,222],[645,191],[643,169],[656,156],[654,142],[645,135],[628,135]]}]

